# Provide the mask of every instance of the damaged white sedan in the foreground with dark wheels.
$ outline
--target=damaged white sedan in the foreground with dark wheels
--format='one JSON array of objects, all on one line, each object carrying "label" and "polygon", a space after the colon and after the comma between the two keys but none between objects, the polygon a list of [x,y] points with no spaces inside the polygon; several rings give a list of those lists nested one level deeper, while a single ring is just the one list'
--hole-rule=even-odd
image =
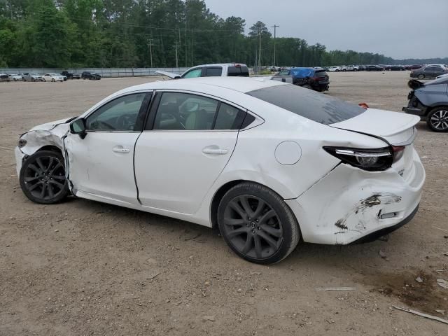
[{"label": "damaged white sedan in the foreground with dark wheels", "polygon": [[15,148],[32,201],[68,195],[218,228],[278,262],[299,241],[370,241],[410,221],[425,172],[419,117],[263,78],[128,87]]}]

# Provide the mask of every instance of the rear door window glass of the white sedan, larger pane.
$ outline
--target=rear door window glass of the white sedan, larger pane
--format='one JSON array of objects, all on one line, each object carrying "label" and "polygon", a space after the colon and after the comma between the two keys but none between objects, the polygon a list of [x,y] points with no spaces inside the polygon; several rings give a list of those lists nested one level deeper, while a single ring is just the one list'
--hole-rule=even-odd
[{"label": "rear door window glass of the white sedan, larger pane", "polygon": [[218,101],[196,94],[164,92],[154,130],[211,130]]}]

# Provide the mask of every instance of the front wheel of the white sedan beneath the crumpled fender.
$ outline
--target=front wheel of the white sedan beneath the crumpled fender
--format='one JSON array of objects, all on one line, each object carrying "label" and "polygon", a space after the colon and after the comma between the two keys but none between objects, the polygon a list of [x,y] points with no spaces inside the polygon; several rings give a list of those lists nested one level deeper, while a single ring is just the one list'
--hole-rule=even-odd
[{"label": "front wheel of the white sedan beneath the crumpled fender", "polygon": [[55,204],[69,195],[61,153],[38,151],[23,162],[20,187],[29,200],[39,204]]}]

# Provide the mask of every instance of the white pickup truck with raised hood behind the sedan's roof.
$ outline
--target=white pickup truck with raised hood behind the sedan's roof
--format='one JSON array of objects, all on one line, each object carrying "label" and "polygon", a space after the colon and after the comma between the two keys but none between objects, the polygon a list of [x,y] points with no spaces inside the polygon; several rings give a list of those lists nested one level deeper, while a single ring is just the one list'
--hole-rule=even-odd
[{"label": "white pickup truck with raised hood behind the sedan's roof", "polygon": [[182,74],[167,71],[155,71],[163,76],[173,79],[195,78],[195,77],[248,77],[249,70],[246,64],[223,63],[223,64],[202,64],[193,66]]}]

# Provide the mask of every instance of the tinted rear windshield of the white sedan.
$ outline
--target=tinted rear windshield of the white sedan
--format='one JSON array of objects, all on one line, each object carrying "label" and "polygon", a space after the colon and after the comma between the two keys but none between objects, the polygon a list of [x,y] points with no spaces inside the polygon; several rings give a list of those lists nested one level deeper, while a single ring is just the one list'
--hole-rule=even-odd
[{"label": "tinted rear windshield of the white sedan", "polygon": [[247,94],[323,125],[339,123],[365,112],[358,105],[292,84],[264,87]]}]

